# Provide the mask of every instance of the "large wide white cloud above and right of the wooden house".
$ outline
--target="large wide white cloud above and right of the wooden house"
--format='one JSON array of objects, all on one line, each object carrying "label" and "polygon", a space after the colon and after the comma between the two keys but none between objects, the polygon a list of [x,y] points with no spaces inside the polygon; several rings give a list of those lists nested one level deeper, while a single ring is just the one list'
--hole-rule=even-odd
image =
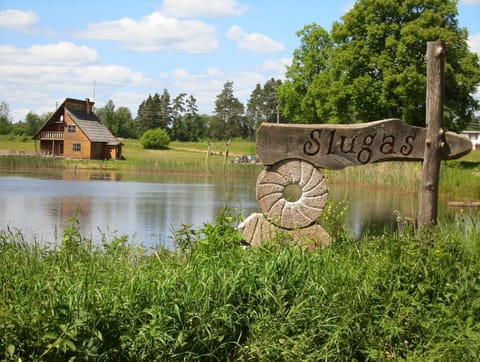
[{"label": "large wide white cloud above and right of the wooden house", "polygon": [[218,48],[215,28],[198,20],[178,20],[154,12],[140,21],[123,18],[88,24],[79,34],[88,39],[119,42],[126,49],[207,53]]}]

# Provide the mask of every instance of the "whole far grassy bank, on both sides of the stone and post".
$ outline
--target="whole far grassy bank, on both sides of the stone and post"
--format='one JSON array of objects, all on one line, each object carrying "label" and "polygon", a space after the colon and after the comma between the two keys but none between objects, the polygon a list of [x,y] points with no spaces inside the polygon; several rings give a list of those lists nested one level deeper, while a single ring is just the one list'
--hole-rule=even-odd
[{"label": "whole far grassy bank, on both sides of the stone and post", "polygon": [[[163,173],[228,173],[256,177],[263,166],[232,164],[236,155],[255,154],[255,143],[234,140],[225,157],[226,145],[222,142],[172,142],[166,150],[144,150],[137,140],[122,140],[123,161],[62,160],[48,157],[13,156],[16,150],[33,154],[35,144],[25,138],[0,136],[0,169],[94,169],[112,171],[148,171]],[[207,150],[211,154],[207,158]],[[343,170],[322,171],[330,184],[349,183],[374,185],[407,192],[417,192],[420,162],[384,162]],[[456,201],[480,200],[480,150],[471,152],[460,160],[442,163],[440,193],[442,197]]]}]

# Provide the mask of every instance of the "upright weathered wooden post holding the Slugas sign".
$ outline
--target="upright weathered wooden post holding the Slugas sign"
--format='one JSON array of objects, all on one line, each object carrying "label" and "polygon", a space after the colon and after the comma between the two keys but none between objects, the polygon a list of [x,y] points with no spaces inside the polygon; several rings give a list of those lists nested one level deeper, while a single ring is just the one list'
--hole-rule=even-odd
[{"label": "upright weathered wooden post holding the Slugas sign", "polygon": [[443,121],[443,89],[445,43],[427,43],[427,100],[425,155],[420,181],[418,226],[435,224],[438,211],[438,183],[442,148],[445,146]]}]

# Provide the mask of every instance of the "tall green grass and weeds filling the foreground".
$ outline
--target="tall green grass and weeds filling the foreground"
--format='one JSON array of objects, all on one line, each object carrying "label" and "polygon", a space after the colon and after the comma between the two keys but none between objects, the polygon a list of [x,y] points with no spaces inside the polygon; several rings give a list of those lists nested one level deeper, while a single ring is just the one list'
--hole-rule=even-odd
[{"label": "tall green grass and weeds filling the foreground", "polygon": [[480,358],[479,217],[315,252],[245,249],[231,221],[175,253],[94,246],[75,220],[50,246],[0,232],[0,360]]}]

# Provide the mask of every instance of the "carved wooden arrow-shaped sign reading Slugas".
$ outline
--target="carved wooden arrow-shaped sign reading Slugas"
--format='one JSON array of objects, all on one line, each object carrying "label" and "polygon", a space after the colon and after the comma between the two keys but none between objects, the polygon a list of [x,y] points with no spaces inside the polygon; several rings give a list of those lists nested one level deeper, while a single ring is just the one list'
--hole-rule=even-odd
[{"label": "carved wooden arrow-shaped sign reading Slugas", "polygon": [[[469,139],[446,132],[442,159],[466,155]],[[426,129],[399,119],[359,124],[263,123],[258,132],[257,154],[265,165],[300,159],[321,168],[339,170],[389,160],[422,160]]]}]

